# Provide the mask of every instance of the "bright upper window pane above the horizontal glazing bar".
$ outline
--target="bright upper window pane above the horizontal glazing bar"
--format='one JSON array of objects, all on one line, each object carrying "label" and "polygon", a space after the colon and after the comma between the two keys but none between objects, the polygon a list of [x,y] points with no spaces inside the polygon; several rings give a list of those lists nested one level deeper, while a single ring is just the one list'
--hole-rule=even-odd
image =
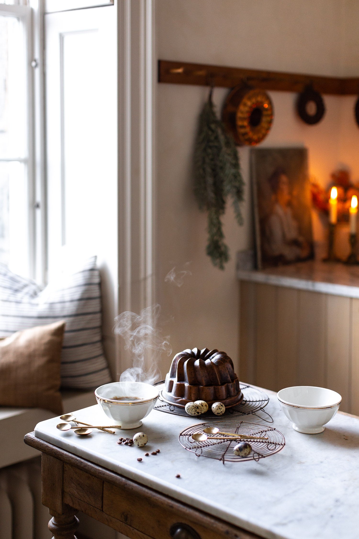
[{"label": "bright upper window pane above the horizontal glazing bar", "polygon": [[26,157],[26,71],[23,24],[0,15],[0,158]]}]

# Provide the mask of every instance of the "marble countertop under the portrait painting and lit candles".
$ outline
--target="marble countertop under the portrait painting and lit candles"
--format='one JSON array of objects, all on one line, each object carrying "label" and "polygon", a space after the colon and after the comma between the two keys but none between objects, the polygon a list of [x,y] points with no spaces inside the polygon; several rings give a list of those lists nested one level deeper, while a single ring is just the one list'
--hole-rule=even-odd
[{"label": "marble countertop under the portrait painting and lit candles", "polygon": [[359,266],[309,260],[261,270],[237,269],[241,281],[359,298]]}]

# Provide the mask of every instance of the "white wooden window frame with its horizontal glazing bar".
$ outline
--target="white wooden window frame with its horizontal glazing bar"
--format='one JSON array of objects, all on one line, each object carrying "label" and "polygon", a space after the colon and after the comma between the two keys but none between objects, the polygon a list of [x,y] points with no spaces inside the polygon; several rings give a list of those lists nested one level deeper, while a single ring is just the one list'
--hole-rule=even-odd
[{"label": "white wooden window frame with its horizontal glazing bar", "polygon": [[36,190],[34,170],[34,85],[33,85],[33,38],[32,38],[32,10],[30,6],[20,4],[0,3],[0,15],[17,17],[24,26],[26,43],[26,156],[10,156],[2,158],[0,162],[25,163],[27,172],[27,244],[29,252],[29,277],[36,278]]}]

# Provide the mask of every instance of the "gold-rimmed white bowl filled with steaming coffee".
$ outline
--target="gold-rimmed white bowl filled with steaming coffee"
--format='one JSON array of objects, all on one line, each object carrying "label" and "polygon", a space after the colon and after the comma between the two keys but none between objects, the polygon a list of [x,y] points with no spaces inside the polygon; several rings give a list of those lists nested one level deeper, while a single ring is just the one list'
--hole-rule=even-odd
[{"label": "gold-rimmed white bowl filled with steaming coffee", "polygon": [[[98,405],[116,425],[136,429],[156,404],[158,389],[144,382],[114,382],[95,391]],[[114,397],[139,397],[139,400],[114,400]]]}]

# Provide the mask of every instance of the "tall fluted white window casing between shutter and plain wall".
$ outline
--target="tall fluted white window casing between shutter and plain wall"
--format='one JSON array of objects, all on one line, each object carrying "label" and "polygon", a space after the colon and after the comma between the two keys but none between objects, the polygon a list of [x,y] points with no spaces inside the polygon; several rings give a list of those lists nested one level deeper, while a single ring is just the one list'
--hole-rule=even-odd
[{"label": "tall fluted white window casing between shutter and plain wall", "polygon": [[[119,312],[155,301],[154,0],[118,3]],[[118,372],[130,358],[118,343]]]}]

